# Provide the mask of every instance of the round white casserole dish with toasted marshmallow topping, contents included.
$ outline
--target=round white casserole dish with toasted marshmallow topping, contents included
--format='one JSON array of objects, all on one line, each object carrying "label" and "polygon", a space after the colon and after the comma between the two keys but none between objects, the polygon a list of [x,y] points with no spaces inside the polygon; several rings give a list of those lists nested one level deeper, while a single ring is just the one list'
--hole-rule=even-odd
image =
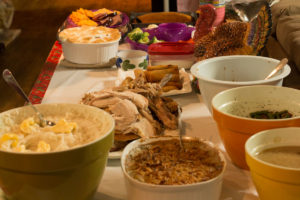
[{"label": "round white casserole dish with toasted marshmallow topping, contents included", "polygon": [[74,27],[59,33],[64,58],[77,64],[111,63],[118,53],[121,34],[107,27]]}]

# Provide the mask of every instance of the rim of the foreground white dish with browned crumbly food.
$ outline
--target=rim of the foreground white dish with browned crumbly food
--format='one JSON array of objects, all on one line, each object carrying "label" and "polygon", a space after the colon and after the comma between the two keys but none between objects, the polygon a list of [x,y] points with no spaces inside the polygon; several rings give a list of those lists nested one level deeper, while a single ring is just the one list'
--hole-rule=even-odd
[{"label": "rim of the foreground white dish with browned crumbly food", "polygon": [[[133,177],[131,177],[127,171],[125,170],[125,160],[126,160],[126,156],[128,154],[125,154],[125,149],[129,149],[128,150],[128,153],[133,149],[132,146],[134,146],[135,144],[137,143],[140,143],[140,141],[142,139],[138,139],[138,140],[135,140],[131,143],[129,143],[125,149],[123,150],[123,153],[122,153],[122,156],[121,156],[121,168],[122,168],[122,172],[123,174],[126,176],[127,179],[129,179],[131,182],[134,182],[135,185],[139,185],[141,187],[144,187],[144,188],[149,188],[149,189],[187,189],[187,188],[194,188],[194,187],[199,187],[201,185],[205,185],[205,184],[209,184],[209,183],[212,183],[212,182],[215,182],[217,181],[218,179],[223,179],[223,175],[224,175],[224,172],[226,170],[226,167],[227,167],[227,162],[226,162],[226,159],[225,159],[225,156],[223,155],[223,153],[221,152],[221,150],[219,148],[217,148],[217,146],[215,144],[213,144],[212,142],[208,141],[208,140],[204,140],[204,139],[200,139],[200,138],[196,138],[196,137],[190,137],[190,136],[185,136],[186,138],[195,138],[195,139],[198,139],[202,142],[204,142],[205,144],[209,145],[210,147],[216,149],[218,151],[218,155],[220,156],[221,160],[223,161],[223,168],[222,168],[222,171],[219,175],[217,175],[216,177],[212,178],[212,179],[209,179],[207,181],[202,181],[202,182],[198,182],[198,183],[192,183],[192,184],[184,184],[184,185],[155,185],[155,184],[150,184],[150,183],[143,183],[143,182],[140,182],[136,179],[134,179]],[[185,138],[183,137],[183,138]],[[179,137],[176,137],[176,136],[163,136],[163,137],[154,137],[154,138],[150,138],[150,139],[153,139],[154,141],[157,141],[157,140],[171,140],[171,139],[178,139]],[[153,141],[152,141],[153,142]],[[151,143],[151,142],[149,142]]]}]

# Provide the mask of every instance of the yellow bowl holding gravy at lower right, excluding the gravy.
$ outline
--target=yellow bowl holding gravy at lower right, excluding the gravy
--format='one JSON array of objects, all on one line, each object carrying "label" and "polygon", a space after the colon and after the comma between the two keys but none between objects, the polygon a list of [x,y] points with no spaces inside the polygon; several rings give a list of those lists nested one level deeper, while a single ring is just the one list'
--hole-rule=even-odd
[{"label": "yellow bowl holding gravy at lower right, excluding the gravy", "polygon": [[300,168],[283,167],[258,159],[268,148],[300,146],[300,128],[279,128],[259,132],[246,144],[246,162],[261,200],[299,200]]}]

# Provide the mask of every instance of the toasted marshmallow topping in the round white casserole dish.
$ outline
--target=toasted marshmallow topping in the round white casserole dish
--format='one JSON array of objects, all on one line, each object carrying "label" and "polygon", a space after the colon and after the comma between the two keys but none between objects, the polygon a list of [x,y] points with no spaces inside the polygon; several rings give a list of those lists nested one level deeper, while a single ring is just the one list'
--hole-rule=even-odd
[{"label": "toasted marshmallow topping in the round white casserole dish", "polygon": [[106,43],[119,40],[121,34],[118,29],[104,26],[82,26],[64,29],[59,33],[61,41],[71,43]]}]

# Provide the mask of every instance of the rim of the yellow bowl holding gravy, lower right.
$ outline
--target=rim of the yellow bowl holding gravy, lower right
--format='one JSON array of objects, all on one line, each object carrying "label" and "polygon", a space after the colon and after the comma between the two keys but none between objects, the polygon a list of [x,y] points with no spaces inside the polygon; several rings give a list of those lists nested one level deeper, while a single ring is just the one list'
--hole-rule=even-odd
[{"label": "rim of the yellow bowl holding gravy, lower right", "polygon": [[[293,171],[293,172],[300,172],[300,168],[297,169],[297,168],[292,168],[292,167],[285,167],[285,166],[275,165],[275,164],[260,160],[257,157],[253,156],[252,153],[250,152],[253,149],[248,148],[249,143],[252,140],[254,140],[256,137],[259,137],[259,136],[264,135],[264,134],[269,133],[269,132],[278,131],[278,130],[295,130],[295,129],[297,129],[299,131],[299,134],[300,134],[300,127],[284,127],[284,128],[275,128],[275,129],[268,129],[268,130],[260,131],[256,134],[250,136],[247,139],[247,141],[245,142],[245,152],[246,152],[246,154],[248,154],[248,156],[251,157],[251,159],[253,159],[256,162],[258,162],[260,164],[263,164],[265,166],[272,167],[272,168],[275,168],[275,169],[281,169],[281,170],[287,170],[287,171]],[[280,146],[280,144],[278,146]],[[250,168],[250,166],[249,166],[249,168]]]}]

